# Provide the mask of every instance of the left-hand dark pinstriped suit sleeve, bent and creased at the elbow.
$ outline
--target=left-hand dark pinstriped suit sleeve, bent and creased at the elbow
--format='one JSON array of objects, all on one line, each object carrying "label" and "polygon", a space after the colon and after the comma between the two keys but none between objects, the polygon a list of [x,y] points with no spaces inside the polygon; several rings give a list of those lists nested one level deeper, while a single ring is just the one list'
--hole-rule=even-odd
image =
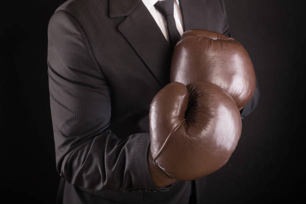
[{"label": "left-hand dark pinstriped suit sleeve, bent and creased at the elbow", "polygon": [[156,187],[147,167],[149,133],[119,139],[108,128],[110,89],[85,33],[64,10],[49,19],[47,73],[60,176],[92,190],[167,190]]}]

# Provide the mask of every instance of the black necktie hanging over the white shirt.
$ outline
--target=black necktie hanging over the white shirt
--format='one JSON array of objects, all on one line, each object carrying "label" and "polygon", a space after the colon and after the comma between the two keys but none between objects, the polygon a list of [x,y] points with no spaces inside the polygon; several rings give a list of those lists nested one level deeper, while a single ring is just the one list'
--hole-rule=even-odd
[{"label": "black necktie hanging over the white shirt", "polygon": [[169,41],[172,49],[180,39],[180,34],[176,29],[173,16],[173,0],[157,1],[154,7],[163,15],[167,23]]}]

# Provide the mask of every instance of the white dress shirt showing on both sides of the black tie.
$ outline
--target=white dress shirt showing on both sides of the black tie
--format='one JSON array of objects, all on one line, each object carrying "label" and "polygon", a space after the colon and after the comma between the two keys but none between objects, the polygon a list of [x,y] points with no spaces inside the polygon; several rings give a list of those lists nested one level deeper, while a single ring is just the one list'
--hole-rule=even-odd
[{"label": "white dress shirt showing on both sides of the black tie", "polygon": [[[154,4],[157,1],[158,0],[142,0],[143,4],[146,6],[146,8],[148,9],[148,11],[151,13],[152,17],[156,21],[157,25],[159,26],[163,36],[169,42],[166,20],[163,17],[163,15],[154,7]],[[183,23],[182,23],[178,0],[174,0],[173,16],[175,20],[176,29],[181,36],[183,33]]]}]

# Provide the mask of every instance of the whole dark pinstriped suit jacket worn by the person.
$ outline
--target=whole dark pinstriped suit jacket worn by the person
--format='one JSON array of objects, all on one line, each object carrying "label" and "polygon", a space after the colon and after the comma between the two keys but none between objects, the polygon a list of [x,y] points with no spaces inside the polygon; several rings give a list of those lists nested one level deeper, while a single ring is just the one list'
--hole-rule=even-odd
[{"label": "whole dark pinstriped suit jacket worn by the person", "polygon": [[[223,0],[179,6],[184,30],[229,35]],[[47,52],[59,200],[187,203],[192,183],[203,203],[205,177],[157,188],[148,171],[149,104],[169,83],[172,51],[141,0],[67,0],[49,20]],[[241,118],[258,98],[257,87]]]}]

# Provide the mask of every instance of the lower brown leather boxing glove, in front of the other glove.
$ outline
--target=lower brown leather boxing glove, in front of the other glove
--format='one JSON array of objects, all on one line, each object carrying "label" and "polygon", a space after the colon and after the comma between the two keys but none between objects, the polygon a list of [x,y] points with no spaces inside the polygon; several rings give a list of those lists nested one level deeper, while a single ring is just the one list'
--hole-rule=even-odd
[{"label": "lower brown leather boxing glove, in front of the other glove", "polygon": [[240,137],[241,119],[234,100],[219,86],[172,82],[150,104],[149,132],[148,166],[162,187],[224,165]]}]

